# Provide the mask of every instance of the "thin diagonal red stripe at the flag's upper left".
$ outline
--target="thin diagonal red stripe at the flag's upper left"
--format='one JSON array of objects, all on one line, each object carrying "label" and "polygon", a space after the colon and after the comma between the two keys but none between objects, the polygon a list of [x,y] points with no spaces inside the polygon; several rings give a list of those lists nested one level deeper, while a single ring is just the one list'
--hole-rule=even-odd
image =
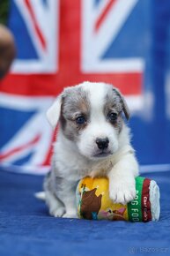
[{"label": "thin diagonal red stripe at the flag's upper left", "polygon": [[41,34],[41,29],[37,24],[37,21],[36,21],[34,12],[33,12],[32,5],[30,4],[29,0],[25,0],[25,3],[26,3],[26,7],[27,7],[27,10],[30,13],[31,18],[33,19],[33,26],[34,26],[35,31],[38,34],[38,37],[41,41],[41,46],[42,46],[43,49],[47,49],[47,44],[46,44],[45,38],[44,38],[43,34]]}]

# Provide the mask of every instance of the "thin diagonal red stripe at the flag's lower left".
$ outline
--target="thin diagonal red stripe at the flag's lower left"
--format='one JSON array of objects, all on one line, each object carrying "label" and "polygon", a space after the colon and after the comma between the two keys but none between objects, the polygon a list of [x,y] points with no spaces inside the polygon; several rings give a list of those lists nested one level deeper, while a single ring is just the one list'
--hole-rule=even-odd
[{"label": "thin diagonal red stripe at the flag's lower left", "polygon": [[33,146],[34,144],[36,144],[39,140],[41,139],[41,134],[38,134],[37,136],[35,136],[34,139],[32,139],[31,141],[29,141],[28,143],[26,143],[25,145],[22,145],[20,147],[15,147],[13,149],[11,149],[9,152],[5,153],[5,154],[0,154],[0,161],[4,160],[5,158],[10,157],[12,154],[17,154],[20,151]]}]

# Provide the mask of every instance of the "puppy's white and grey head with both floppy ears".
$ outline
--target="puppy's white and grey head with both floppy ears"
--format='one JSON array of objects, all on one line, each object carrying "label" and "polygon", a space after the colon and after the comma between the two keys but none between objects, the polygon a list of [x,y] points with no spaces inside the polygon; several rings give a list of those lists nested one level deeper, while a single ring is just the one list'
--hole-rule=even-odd
[{"label": "puppy's white and grey head with both floppy ears", "polygon": [[129,119],[127,104],[115,87],[85,82],[65,88],[47,117],[54,128],[59,121],[63,135],[77,145],[80,154],[97,160],[117,151],[122,112]]}]

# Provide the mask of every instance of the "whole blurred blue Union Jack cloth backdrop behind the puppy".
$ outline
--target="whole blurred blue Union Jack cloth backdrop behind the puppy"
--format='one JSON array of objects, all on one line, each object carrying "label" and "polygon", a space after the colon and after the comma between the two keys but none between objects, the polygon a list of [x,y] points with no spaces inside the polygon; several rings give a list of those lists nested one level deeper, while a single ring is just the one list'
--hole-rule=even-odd
[{"label": "whole blurred blue Union Jack cloth backdrop behind the puppy", "polygon": [[55,95],[102,80],[127,99],[142,171],[170,168],[169,1],[11,0],[8,26],[18,56],[0,81],[1,166],[46,172]]}]

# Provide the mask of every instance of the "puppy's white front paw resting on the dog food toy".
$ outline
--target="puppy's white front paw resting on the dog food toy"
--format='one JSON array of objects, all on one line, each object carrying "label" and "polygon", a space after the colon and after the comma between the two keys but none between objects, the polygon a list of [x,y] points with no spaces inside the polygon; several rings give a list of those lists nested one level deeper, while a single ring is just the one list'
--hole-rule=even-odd
[{"label": "puppy's white front paw resting on the dog food toy", "polygon": [[126,205],[129,201],[136,197],[135,180],[131,182],[115,182],[110,181],[109,196],[115,203]]}]

